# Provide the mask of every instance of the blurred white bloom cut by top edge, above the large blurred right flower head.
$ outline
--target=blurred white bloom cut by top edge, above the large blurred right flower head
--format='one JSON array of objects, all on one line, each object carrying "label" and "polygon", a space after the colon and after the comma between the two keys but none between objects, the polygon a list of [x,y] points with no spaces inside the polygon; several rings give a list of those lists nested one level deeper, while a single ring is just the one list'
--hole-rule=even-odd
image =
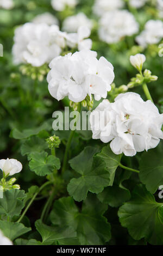
[{"label": "blurred white bloom cut by top edge, above the large blurred right flower head", "polygon": [[93,5],[93,13],[102,16],[108,11],[122,8],[124,5],[122,0],[96,0]]}]

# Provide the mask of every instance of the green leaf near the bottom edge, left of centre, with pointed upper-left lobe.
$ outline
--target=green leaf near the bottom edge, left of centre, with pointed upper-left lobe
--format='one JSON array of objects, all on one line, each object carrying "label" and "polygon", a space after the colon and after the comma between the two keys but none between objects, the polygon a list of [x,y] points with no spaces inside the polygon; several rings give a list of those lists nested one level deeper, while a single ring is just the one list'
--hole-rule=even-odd
[{"label": "green leaf near the bottom edge, left of centre, with pointed upper-left lobe", "polygon": [[42,237],[42,245],[52,245],[56,240],[62,239],[74,239],[77,236],[76,232],[71,227],[64,229],[49,227],[42,223],[41,220],[35,222],[37,231],[39,231]]}]

